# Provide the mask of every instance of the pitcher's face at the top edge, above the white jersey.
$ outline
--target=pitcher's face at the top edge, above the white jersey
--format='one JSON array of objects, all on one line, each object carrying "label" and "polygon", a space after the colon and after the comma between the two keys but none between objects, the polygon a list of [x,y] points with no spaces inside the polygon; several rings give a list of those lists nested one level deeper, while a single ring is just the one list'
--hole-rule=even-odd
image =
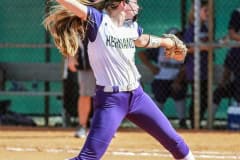
[{"label": "pitcher's face at the top edge, above the white jersey", "polygon": [[137,0],[129,0],[129,3],[126,3],[126,18],[127,19],[133,19],[134,16],[138,14],[139,11],[139,5]]}]

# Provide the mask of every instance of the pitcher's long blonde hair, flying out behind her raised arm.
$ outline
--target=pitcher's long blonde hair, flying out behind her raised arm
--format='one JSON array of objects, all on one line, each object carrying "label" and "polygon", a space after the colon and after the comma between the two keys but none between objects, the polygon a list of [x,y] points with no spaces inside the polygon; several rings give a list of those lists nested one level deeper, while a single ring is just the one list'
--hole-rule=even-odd
[{"label": "pitcher's long blonde hair, flying out behind her raised arm", "polygon": [[[80,3],[102,10],[110,6],[113,2],[121,0],[78,0]],[[79,37],[83,40],[86,35],[89,20],[84,22],[61,5],[53,5],[46,15],[43,24],[53,37],[56,47],[63,56],[75,56],[78,50]]]}]

